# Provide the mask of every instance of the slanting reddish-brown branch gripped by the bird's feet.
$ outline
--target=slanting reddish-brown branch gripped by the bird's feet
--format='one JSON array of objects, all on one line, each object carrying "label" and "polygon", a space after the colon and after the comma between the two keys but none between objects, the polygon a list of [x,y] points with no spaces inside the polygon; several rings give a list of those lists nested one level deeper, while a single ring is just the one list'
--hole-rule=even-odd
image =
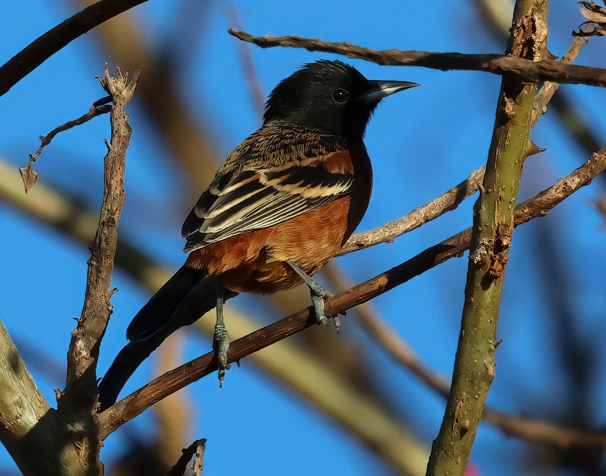
[{"label": "slanting reddish-brown branch gripped by the bird's feet", "polygon": [[[606,148],[591,156],[585,164],[570,175],[559,179],[552,187],[542,191],[533,199],[518,205],[514,224],[517,226],[533,218],[545,216],[551,208],[558,205],[579,188],[590,183],[594,177],[605,169]],[[444,242],[438,243],[438,245],[431,246],[431,248],[407,262],[327,300],[327,316],[336,316],[353,306],[390,291],[390,289],[424,273],[433,266],[439,265],[452,257],[461,256],[469,248],[470,242],[471,228],[468,228]],[[310,316],[310,309],[285,317],[232,342],[229,355],[230,362],[238,362],[253,352],[314,325],[316,325],[316,320],[313,314]],[[132,420],[162,398],[214,372],[217,366],[213,359],[213,352],[209,352],[198,357],[198,359],[191,360],[191,362],[161,375],[153,382],[148,383],[148,385],[99,414],[98,423],[99,428],[101,428],[101,438],[107,437],[119,426]]]}]

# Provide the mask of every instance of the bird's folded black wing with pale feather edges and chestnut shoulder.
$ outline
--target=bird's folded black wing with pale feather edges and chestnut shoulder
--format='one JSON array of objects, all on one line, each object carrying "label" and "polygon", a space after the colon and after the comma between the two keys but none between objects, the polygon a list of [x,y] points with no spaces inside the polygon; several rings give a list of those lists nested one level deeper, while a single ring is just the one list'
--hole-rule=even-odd
[{"label": "bird's folded black wing with pale feather edges and chestnut shoulder", "polygon": [[[339,161],[344,164],[335,167]],[[185,220],[185,251],[276,225],[350,194],[355,187],[350,164],[349,153],[339,151],[218,175]]]}]

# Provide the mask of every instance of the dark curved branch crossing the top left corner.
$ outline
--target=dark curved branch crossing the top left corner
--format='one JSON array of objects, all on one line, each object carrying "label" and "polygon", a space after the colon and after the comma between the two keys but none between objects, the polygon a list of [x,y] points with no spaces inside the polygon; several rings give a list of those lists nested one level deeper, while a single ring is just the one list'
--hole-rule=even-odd
[{"label": "dark curved branch crossing the top left corner", "polygon": [[0,96],[48,58],[97,25],[147,0],[99,0],[48,30],[0,67]]}]

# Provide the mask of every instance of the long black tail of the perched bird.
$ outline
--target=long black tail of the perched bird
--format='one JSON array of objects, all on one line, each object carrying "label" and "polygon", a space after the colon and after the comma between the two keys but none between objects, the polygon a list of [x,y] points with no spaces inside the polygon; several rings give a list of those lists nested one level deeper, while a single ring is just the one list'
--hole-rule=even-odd
[{"label": "long black tail of the perched bird", "polygon": [[[237,293],[224,291],[225,300]],[[216,281],[183,266],[133,318],[119,352],[99,383],[101,409],[113,405],[128,378],[177,329],[190,325],[216,306]]]}]

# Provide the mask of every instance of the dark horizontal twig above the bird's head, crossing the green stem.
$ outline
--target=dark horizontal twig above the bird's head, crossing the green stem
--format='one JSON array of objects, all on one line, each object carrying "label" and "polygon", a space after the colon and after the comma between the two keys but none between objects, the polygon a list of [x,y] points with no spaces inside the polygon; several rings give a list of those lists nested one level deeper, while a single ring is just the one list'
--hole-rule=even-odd
[{"label": "dark horizontal twig above the bird's head, crossing the green stem", "polygon": [[261,48],[291,47],[308,51],[325,51],[347,58],[359,58],[380,65],[420,66],[441,71],[485,71],[492,74],[513,74],[520,81],[554,81],[561,84],[588,84],[606,87],[606,70],[589,66],[563,64],[553,60],[530,61],[503,55],[464,55],[462,53],[430,53],[428,51],[371,50],[347,42],[331,43],[299,36],[253,36],[245,31],[228,30],[230,35]]}]

